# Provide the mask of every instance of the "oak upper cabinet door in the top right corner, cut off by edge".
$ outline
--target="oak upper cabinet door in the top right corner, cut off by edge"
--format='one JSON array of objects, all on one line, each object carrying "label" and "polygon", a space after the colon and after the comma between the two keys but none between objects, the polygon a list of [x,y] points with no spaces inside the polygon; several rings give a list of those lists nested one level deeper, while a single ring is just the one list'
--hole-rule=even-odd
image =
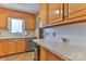
[{"label": "oak upper cabinet door in the top right corner, cut off by edge", "polygon": [[86,16],[86,3],[67,3],[64,4],[65,20],[77,18]]}]

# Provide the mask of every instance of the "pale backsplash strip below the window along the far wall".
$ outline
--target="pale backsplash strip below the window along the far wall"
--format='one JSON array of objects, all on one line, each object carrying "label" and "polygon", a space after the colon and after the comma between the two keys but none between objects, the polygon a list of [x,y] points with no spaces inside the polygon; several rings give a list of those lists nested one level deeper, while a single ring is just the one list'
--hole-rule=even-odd
[{"label": "pale backsplash strip below the window along the far wall", "polygon": [[26,31],[27,35],[25,36],[25,33],[23,34],[11,34],[7,29],[0,29],[0,39],[1,38],[20,38],[20,37],[34,37],[35,31]]}]

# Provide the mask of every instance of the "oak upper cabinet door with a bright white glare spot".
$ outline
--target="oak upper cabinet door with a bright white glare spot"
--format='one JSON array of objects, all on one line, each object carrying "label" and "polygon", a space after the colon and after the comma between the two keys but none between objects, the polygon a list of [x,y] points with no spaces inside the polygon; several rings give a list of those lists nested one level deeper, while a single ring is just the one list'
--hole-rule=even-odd
[{"label": "oak upper cabinet door with a bright white glare spot", "polygon": [[49,3],[48,4],[48,25],[54,25],[63,21],[63,4]]}]

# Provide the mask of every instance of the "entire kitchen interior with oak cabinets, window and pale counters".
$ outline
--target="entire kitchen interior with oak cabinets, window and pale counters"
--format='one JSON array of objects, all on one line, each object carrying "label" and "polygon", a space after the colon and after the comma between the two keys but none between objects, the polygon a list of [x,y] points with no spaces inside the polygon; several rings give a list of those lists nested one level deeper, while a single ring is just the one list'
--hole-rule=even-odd
[{"label": "entire kitchen interior with oak cabinets, window and pale counters", "polygon": [[86,3],[0,3],[0,60],[86,61],[85,12]]}]

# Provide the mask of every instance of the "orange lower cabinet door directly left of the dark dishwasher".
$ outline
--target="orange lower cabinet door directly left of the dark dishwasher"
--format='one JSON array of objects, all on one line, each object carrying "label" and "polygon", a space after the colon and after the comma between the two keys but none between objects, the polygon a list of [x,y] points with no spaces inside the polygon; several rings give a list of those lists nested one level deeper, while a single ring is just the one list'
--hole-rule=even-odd
[{"label": "orange lower cabinet door directly left of the dark dishwasher", "polygon": [[17,40],[17,43],[16,43],[16,50],[17,52],[25,52],[25,39],[23,40]]}]

